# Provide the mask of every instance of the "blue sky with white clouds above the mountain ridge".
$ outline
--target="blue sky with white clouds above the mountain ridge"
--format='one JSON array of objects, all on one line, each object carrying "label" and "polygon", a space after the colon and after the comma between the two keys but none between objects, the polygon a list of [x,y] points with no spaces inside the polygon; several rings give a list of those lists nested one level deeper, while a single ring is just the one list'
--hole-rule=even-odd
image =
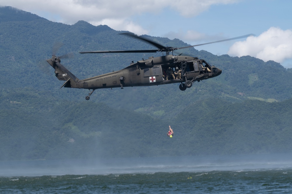
[{"label": "blue sky with white clouds above the mountain ridge", "polygon": [[[250,55],[292,68],[290,0],[0,0],[53,22],[84,20],[137,35],[178,38],[215,55]],[[173,45],[165,45],[173,46]]]}]

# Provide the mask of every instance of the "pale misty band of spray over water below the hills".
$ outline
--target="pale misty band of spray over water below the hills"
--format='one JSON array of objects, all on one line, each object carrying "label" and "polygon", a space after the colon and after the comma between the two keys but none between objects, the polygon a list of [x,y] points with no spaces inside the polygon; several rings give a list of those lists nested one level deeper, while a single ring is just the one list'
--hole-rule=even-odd
[{"label": "pale misty band of spray over water below the hills", "polygon": [[0,176],[103,175],[277,168],[292,169],[292,154],[0,161]]}]

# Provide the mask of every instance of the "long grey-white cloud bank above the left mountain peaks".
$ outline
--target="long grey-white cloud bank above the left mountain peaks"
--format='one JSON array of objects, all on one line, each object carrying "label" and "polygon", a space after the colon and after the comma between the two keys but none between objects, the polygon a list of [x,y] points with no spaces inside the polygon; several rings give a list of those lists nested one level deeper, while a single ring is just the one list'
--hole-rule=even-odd
[{"label": "long grey-white cloud bank above the left mountain peaks", "polygon": [[[115,30],[127,30],[136,34],[149,31],[135,24],[135,15],[159,15],[170,8],[183,17],[193,17],[206,11],[210,6],[229,4],[239,0],[1,0],[0,6],[12,6],[35,13],[53,22],[74,24],[84,20],[93,25],[106,24]],[[51,14],[51,16],[50,16]],[[162,17],[162,16],[161,16]]]}]

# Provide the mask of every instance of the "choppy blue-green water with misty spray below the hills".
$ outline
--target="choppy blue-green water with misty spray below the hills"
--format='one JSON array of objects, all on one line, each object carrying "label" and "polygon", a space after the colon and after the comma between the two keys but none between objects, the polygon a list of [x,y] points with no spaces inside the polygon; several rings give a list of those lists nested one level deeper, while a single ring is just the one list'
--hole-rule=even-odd
[{"label": "choppy blue-green water with misty spray below the hills", "polygon": [[292,193],[292,155],[1,161],[0,193]]}]

